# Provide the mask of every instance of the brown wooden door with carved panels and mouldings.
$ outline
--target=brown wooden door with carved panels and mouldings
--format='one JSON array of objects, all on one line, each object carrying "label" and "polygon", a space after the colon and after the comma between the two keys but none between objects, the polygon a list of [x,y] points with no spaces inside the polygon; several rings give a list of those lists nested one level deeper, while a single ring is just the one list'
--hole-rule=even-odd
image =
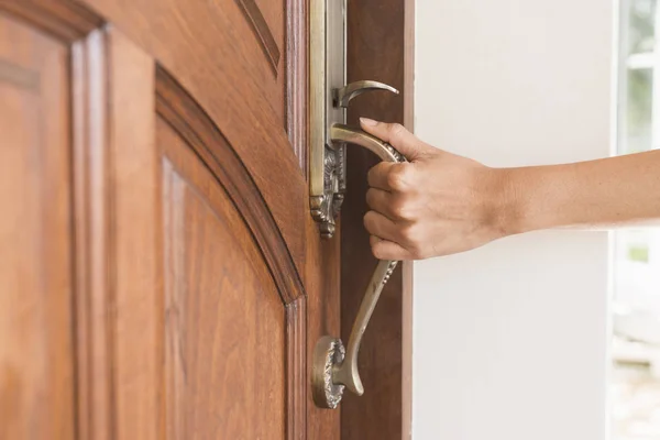
[{"label": "brown wooden door with carved panels and mouldings", "polygon": [[0,0],[0,439],[340,437],[307,58],[305,0]]}]

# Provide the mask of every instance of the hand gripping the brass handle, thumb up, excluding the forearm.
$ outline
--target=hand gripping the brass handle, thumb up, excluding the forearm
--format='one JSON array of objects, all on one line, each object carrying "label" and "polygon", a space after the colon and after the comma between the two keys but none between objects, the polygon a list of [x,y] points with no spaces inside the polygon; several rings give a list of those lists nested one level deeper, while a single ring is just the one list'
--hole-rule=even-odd
[{"label": "hand gripping the brass handle, thumb up, excluding the forearm", "polygon": [[504,170],[438,150],[399,124],[362,118],[361,125],[409,161],[369,172],[364,226],[377,258],[449,255],[507,234]]}]

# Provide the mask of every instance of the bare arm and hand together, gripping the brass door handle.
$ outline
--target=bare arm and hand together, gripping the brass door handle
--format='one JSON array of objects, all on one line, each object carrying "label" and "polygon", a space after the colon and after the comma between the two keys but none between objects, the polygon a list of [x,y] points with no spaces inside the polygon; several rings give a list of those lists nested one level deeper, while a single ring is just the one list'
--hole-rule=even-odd
[{"label": "bare arm and hand together, gripping the brass door handle", "polygon": [[660,219],[660,151],[576,164],[491,168],[398,124],[362,121],[410,163],[370,170],[364,224],[380,258],[468,251],[503,237]]}]

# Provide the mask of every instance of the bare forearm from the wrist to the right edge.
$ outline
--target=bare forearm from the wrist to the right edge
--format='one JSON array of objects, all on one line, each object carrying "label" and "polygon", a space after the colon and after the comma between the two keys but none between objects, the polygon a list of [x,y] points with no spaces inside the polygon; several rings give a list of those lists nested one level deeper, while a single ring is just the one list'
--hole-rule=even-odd
[{"label": "bare forearm from the wrist to the right edge", "polygon": [[660,219],[660,151],[503,173],[507,233]]}]

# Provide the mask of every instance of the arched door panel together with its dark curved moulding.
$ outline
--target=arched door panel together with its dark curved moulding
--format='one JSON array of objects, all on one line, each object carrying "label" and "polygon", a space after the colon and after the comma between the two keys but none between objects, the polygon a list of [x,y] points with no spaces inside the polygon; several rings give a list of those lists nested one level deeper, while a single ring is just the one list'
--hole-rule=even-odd
[{"label": "arched door panel together with its dark curved moulding", "polygon": [[[301,315],[305,312],[304,289],[298,273],[258,188],[231,145],[174,78],[163,69],[157,70],[156,78],[156,133],[165,157],[166,174],[165,255],[172,260],[172,267],[166,268],[166,273],[173,276],[165,280],[165,285],[172,289],[166,295],[170,304],[166,310],[170,310],[170,307],[172,310],[185,309],[185,305],[179,302],[188,298],[197,302],[209,295],[217,295],[205,288],[189,292],[185,279],[191,277],[195,285],[205,283],[212,286],[221,283],[212,280],[212,277],[219,276],[226,283],[220,293],[227,295],[227,299],[209,299],[218,310],[207,315],[208,319],[205,319],[204,306],[198,306],[197,314],[172,315],[173,322],[180,321],[175,315],[188,315],[190,321],[195,322],[195,331],[204,332],[205,326],[210,326],[212,331],[208,337],[211,343],[207,349],[217,345],[221,350],[218,359],[213,359],[213,367],[215,374],[223,376],[206,377],[204,372],[193,374],[207,387],[207,393],[231,396],[221,400],[228,406],[218,408],[212,417],[218,419],[222,415],[231,425],[207,435],[276,438],[279,415],[283,436],[287,432],[287,438],[299,438],[300,427],[306,425],[302,410],[305,360],[301,350],[306,343],[306,329]],[[193,217],[189,224],[186,224],[187,216]],[[204,217],[204,220],[199,217]],[[207,226],[207,222],[211,224]],[[223,224],[218,228],[212,224],[216,222]],[[212,230],[206,232],[207,228]],[[184,231],[194,233],[195,238],[182,239],[179,234]],[[217,250],[204,249],[213,244],[218,246]],[[204,246],[201,251],[195,248],[188,251],[196,255],[191,260],[199,260],[194,273],[178,267],[190,260],[185,256],[188,245]],[[213,261],[213,255],[220,260]],[[177,275],[185,279],[177,279]],[[180,286],[182,282],[186,286]],[[239,312],[246,315],[241,318]],[[222,326],[227,327],[222,329]],[[168,323],[166,327],[169,327]],[[177,393],[178,384],[185,382],[189,374],[189,367],[185,367],[185,360],[179,358],[182,350],[178,346],[184,343],[180,338],[184,329],[175,327],[169,329],[172,342],[166,341],[166,351],[172,352],[170,359],[176,361],[177,366],[174,369],[169,362],[165,364],[166,369],[173,369],[166,375],[174,381],[169,386]],[[204,336],[191,338],[189,342],[202,346],[200,340],[204,340]],[[170,348],[173,344],[177,348]],[[204,366],[205,353],[198,356],[197,365]],[[245,374],[252,374],[253,377],[244,381]],[[278,377],[286,380],[278,383]],[[215,383],[217,389],[212,389]],[[178,406],[168,407],[168,421],[176,421],[183,417],[182,413],[195,413],[191,408],[209,407],[207,402],[180,400]],[[190,432],[190,428],[184,424],[186,421],[182,420],[177,425],[177,432],[182,432],[182,436],[173,438],[184,439],[186,437],[183,433]],[[208,427],[212,424],[201,425]],[[193,431],[201,432],[199,429]]]}]

